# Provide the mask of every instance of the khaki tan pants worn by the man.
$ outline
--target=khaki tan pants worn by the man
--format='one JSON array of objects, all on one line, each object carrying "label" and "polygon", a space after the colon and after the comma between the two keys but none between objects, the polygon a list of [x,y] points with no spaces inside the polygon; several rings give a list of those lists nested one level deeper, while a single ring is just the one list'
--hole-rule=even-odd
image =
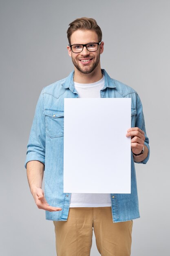
[{"label": "khaki tan pants worn by the man", "polygon": [[130,256],[132,220],[113,223],[111,207],[70,208],[54,225],[57,256],[89,256],[93,229],[102,256]]}]

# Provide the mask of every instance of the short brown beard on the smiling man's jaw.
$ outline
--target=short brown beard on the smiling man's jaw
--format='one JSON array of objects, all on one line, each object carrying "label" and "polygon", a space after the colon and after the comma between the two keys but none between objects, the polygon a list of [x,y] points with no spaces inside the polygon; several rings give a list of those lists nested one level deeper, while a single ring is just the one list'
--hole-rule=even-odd
[{"label": "short brown beard on the smiling man's jaw", "polygon": [[95,61],[93,62],[92,65],[84,65],[84,67],[82,67],[79,64],[79,60],[76,61],[76,59],[74,59],[73,56],[71,56],[71,58],[72,58],[72,61],[73,61],[73,65],[77,68],[77,70],[79,70],[79,72],[81,72],[83,74],[90,74],[91,72],[93,72],[96,69],[97,65],[99,64],[100,54],[97,55],[97,57],[96,57],[96,59],[95,59]]}]

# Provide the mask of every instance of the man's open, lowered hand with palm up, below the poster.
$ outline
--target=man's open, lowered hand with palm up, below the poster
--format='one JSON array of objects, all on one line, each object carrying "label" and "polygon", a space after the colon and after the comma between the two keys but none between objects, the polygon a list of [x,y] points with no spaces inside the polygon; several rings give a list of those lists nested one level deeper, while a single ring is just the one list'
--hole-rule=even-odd
[{"label": "man's open, lowered hand with palm up, below the poster", "polygon": [[62,208],[52,207],[47,203],[47,201],[44,197],[44,191],[42,189],[37,188],[32,194],[33,194],[35,203],[37,204],[37,207],[39,209],[43,209],[46,211],[61,211],[62,210]]}]

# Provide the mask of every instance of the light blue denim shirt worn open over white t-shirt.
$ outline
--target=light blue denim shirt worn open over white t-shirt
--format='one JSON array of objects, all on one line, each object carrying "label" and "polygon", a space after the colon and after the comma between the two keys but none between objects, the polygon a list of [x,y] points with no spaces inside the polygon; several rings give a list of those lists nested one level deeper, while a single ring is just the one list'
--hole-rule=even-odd
[{"label": "light blue denim shirt worn open over white t-shirt", "polygon": [[[149,150],[142,104],[135,90],[111,79],[105,70],[104,88],[101,98],[131,98],[131,126],[145,132],[145,145]],[[73,81],[74,72],[60,81],[43,88],[35,110],[33,125],[28,142],[26,163],[37,160],[45,165],[45,197],[53,207],[62,211],[46,211],[47,220],[67,220],[71,193],[63,193],[63,144],[64,144],[64,98],[78,98]],[[102,135],[104,139],[104,135]],[[141,163],[146,164],[149,159]],[[25,163],[25,166],[26,166]],[[131,153],[131,193],[110,194],[113,222],[139,218],[135,165]]]}]

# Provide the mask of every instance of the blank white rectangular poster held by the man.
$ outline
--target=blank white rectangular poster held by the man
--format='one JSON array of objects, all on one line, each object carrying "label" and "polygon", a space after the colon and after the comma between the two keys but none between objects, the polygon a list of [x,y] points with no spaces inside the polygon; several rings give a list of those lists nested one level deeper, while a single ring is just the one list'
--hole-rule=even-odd
[{"label": "blank white rectangular poster held by the man", "polygon": [[64,99],[64,193],[130,193],[130,98]]}]

